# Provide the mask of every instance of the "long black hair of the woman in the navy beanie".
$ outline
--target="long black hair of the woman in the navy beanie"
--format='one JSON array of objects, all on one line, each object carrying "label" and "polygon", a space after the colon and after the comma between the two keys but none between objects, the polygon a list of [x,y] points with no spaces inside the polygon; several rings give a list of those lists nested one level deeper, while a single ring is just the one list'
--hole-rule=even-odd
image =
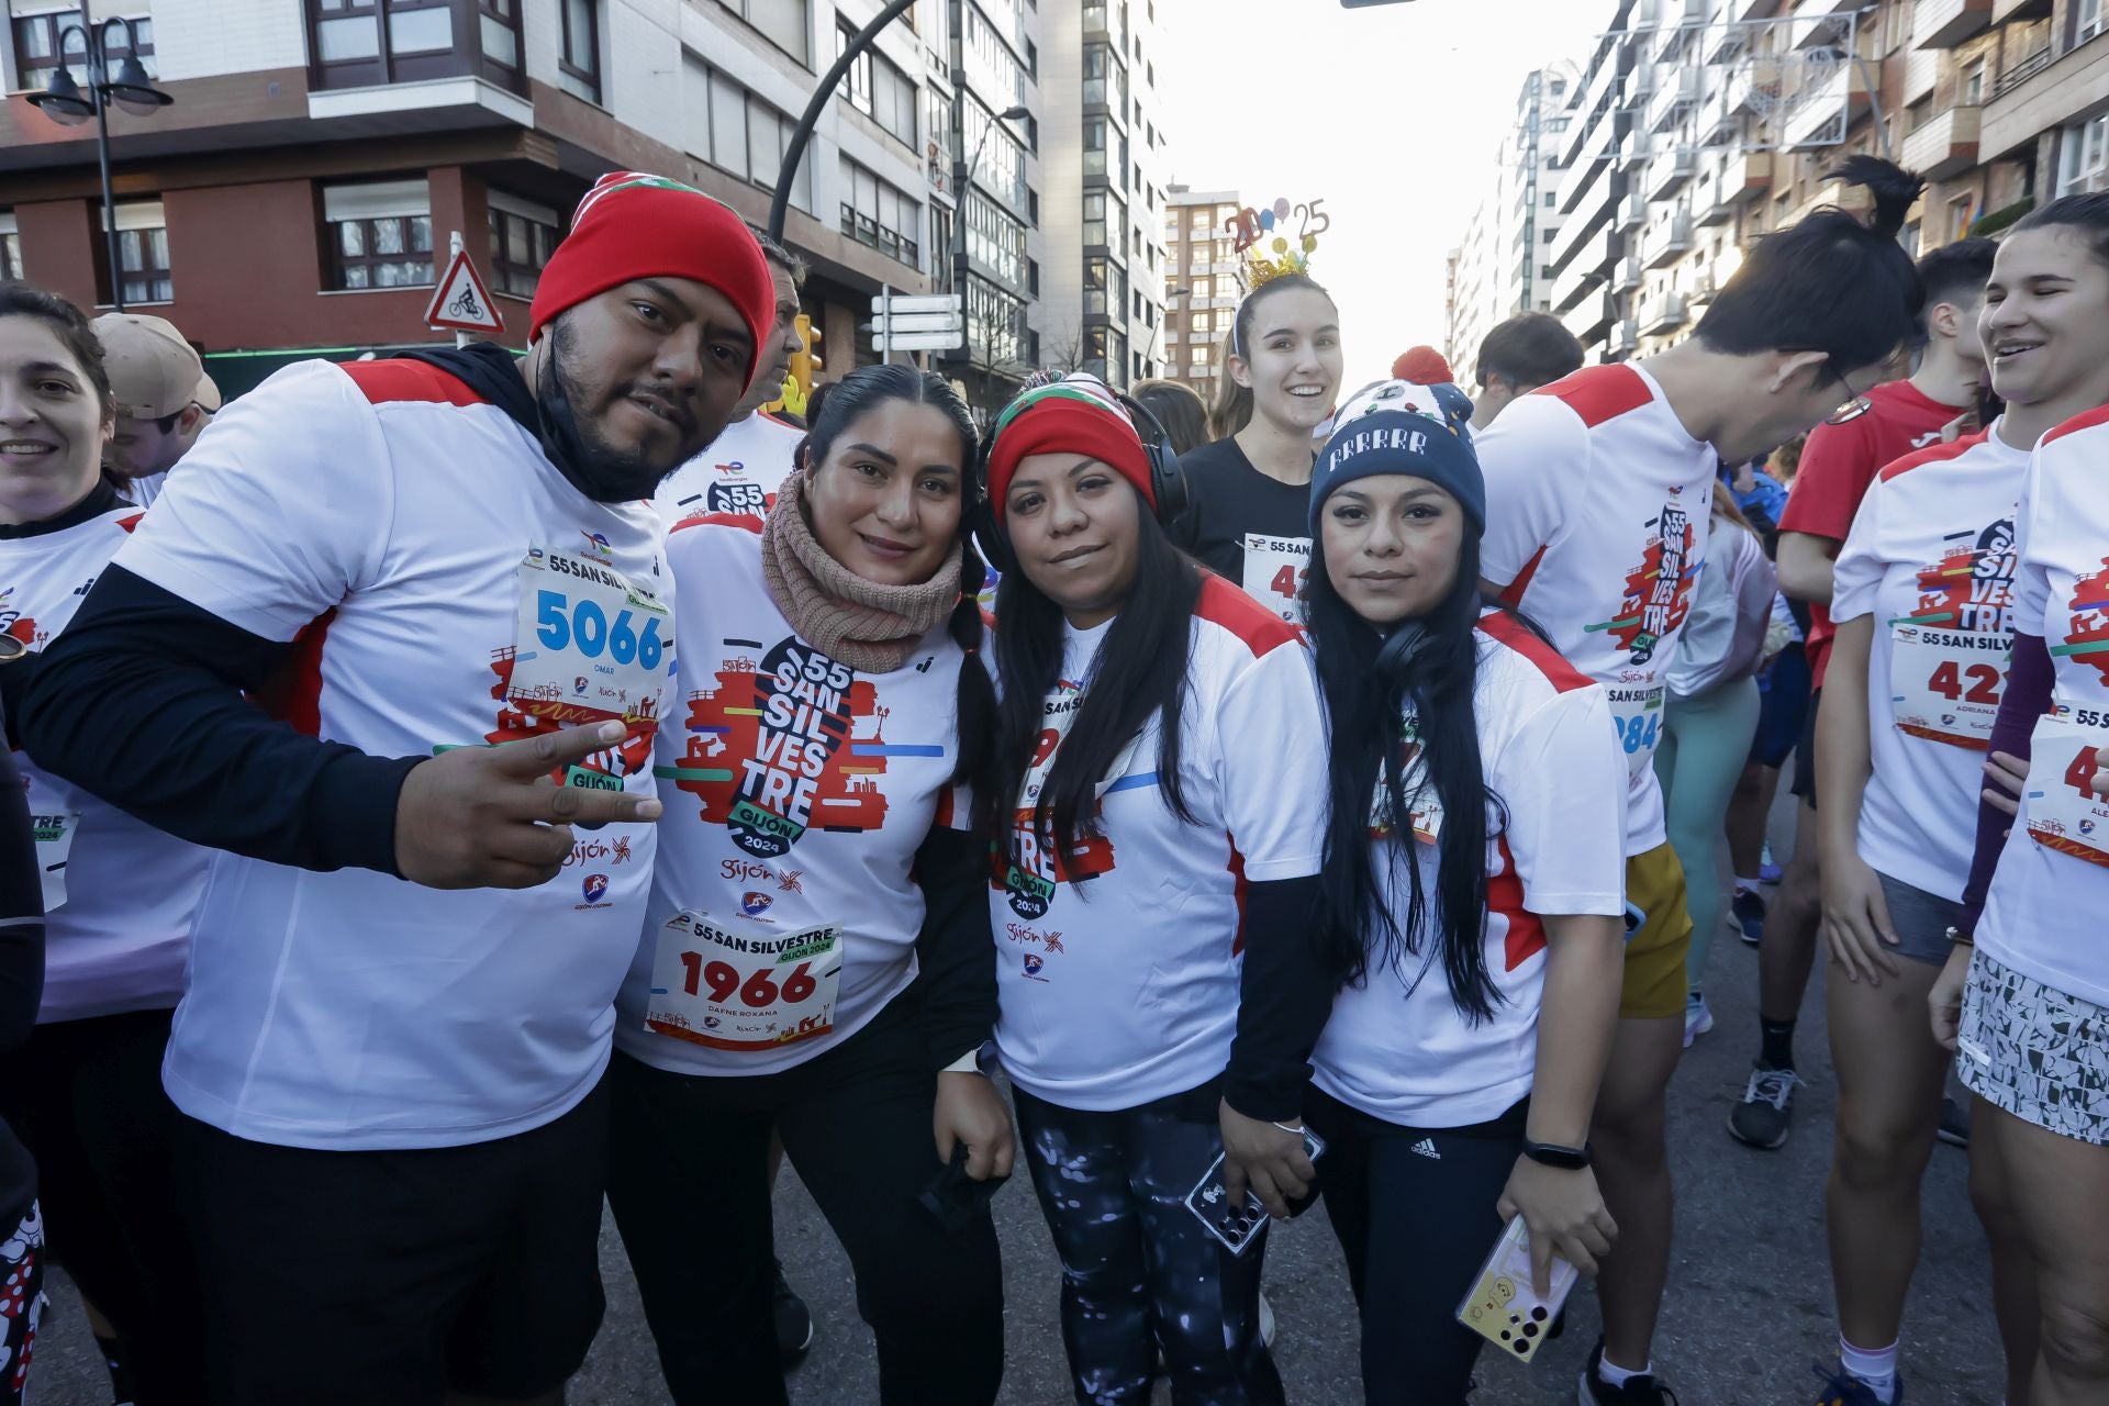
[{"label": "long black hair of the woman in the navy beanie", "polygon": [[[1318,689],[1331,723],[1327,793],[1331,812],[1320,868],[1320,930],[1339,980],[1360,984],[1371,968],[1402,970],[1436,934],[1451,1001],[1468,1024],[1502,1001],[1487,974],[1487,841],[1508,828],[1508,809],[1487,786],[1472,689],[1478,683],[1478,618],[1493,601],[1478,588],[1478,538],[1466,533],[1457,580],[1426,616],[1390,637],[1339,599],[1327,575],[1324,542],[1312,542],[1303,588]],[[1417,719],[1413,767],[1443,805],[1436,892],[1428,894],[1413,850],[1413,807],[1405,790],[1405,708]],[[1409,877],[1405,913],[1384,898],[1371,801],[1384,786],[1384,822],[1398,837]],[[1493,820],[1489,820],[1493,816]]]}]

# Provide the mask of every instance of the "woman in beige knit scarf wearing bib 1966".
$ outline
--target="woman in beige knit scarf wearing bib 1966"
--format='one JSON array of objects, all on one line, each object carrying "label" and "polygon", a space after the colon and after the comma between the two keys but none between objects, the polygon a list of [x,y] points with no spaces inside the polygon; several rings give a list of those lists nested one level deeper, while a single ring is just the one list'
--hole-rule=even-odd
[{"label": "woman in beige knit scarf wearing bib 1966", "polygon": [[[955,803],[995,708],[972,464],[945,382],[865,367],[816,403],[766,521],[666,544],[681,700],[616,1001],[607,1197],[681,1404],[787,1400],[772,1130],[856,1271],[879,1400],[987,1406],[1002,1381],[995,1229],[970,1187],[1010,1174],[1012,1138],[974,1065],[989,871]],[[628,856],[586,835],[574,858],[591,904]]]}]

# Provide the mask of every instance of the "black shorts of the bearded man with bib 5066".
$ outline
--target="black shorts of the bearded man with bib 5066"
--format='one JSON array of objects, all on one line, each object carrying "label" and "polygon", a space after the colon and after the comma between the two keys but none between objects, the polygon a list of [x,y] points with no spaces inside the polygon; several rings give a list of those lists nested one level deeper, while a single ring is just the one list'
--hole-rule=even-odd
[{"label": "black shorts of the bearded man with bib 5066", "polygon": [[561,1387],[601,1328],[607,1088],[494,1143],[316,1151],[183,1119],[213,1402],[439,1406]]}]

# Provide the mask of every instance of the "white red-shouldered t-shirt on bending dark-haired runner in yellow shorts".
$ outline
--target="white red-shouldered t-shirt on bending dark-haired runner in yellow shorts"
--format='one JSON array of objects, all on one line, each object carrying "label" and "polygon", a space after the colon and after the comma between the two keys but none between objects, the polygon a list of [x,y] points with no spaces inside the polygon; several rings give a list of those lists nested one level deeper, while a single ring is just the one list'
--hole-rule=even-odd
[{"label": "white red-shouldered t-shirt on bending dark-haired runner in yellow shorts", "polygon": [[1626,753],[1626,856],[1668,841],[1653,755],[1677,639],[1706,561],[1713,445],[1639,367],[1518,396],[1478,438],[1481,575],[1605,687]]}]

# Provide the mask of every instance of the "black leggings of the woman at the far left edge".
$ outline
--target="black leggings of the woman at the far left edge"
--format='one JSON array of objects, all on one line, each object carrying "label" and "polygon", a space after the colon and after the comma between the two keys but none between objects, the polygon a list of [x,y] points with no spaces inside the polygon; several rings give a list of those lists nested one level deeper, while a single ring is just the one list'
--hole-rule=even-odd
[{"label": "black leggings of the woman at the far left edge", "polygon": [[0,1117],[36,1157],[51,1258],[118,1330],[139,1406],[205,1402],[205,1294],[160,1088],[175,1012],[40,1024]]}]

